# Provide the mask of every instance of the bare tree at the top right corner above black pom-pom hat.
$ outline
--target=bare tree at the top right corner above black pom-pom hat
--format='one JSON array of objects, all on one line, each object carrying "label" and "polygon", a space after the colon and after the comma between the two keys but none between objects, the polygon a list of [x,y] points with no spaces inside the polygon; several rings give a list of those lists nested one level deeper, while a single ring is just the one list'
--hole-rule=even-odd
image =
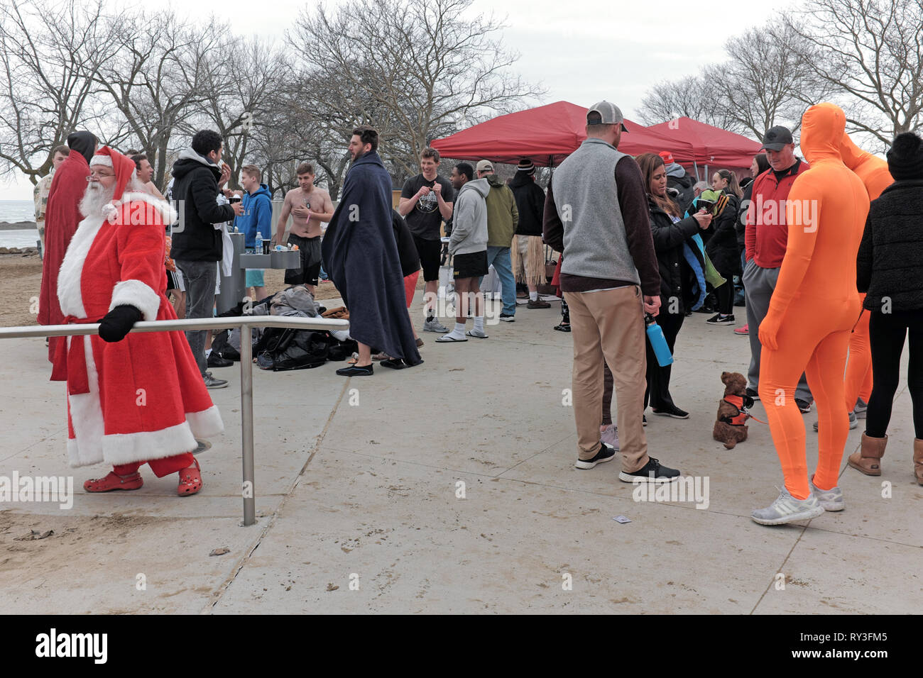
[{"label": "bare tree at the top right corner above black pom-pom hat", "polygon": [[923,0],[808,0],[786,25],[847,125],[884,145],[923,128]]}]

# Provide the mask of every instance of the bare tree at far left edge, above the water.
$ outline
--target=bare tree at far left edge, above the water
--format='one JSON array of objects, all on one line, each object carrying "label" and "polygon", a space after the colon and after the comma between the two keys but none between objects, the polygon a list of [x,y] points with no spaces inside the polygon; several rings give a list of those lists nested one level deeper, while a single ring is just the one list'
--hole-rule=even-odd
[{"label": "bare tree at far left edge, above the water", "polygon": [[106,24],[103,0],[0,4],[0,176],[35,184],[68,134],[100,132],[91,104],[114,54]]}]

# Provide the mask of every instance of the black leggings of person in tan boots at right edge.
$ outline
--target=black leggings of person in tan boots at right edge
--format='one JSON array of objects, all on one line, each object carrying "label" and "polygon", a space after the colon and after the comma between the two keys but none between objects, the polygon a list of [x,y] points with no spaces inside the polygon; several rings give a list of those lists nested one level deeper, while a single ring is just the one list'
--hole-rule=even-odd
[{"label": "black leggings of person in tan boots at right edge", "polygon": [[869,318],[871,370],[874,383],[866,413],[866,435],[883,438],[891,422],[894,393],[901,378],[901,353],[910,333],[907,386],[914,410],[914,432],[923,439],[923,309],[881,313]]}]

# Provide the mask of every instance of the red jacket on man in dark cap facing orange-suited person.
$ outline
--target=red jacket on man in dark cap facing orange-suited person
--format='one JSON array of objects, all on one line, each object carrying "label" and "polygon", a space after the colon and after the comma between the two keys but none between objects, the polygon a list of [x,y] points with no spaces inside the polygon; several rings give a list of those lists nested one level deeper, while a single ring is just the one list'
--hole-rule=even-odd
[{"label": "red jacket on man in dark cap facing orange-suited person", "polygon": [[785,258],[788,226],[785,223],[785,200],[801,172],[808,163],[797,160],[792,167],[776,179],[775,172],[766,170],[753,180],[753,193],[747,209],[747,261],[753,259],[760,268],[779,268]]}]

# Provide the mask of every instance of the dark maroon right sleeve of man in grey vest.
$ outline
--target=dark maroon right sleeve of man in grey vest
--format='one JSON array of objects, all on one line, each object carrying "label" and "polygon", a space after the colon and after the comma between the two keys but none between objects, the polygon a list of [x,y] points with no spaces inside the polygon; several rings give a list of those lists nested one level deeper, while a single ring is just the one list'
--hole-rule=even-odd
[{"label": "dark maroon right sleeve of man in grey vest", "polygon": [[[660,294],[660,270],[657,255],[653,250],[651,234],[651,212],[647,205],[647,191],[641,168],[631,156],[625,156],[616,164],[618,206],[625,222],[625,237],[635,268],[641,278],[641,292],[648,296]],[[545,211],[547,214],[547,211]]]}]

